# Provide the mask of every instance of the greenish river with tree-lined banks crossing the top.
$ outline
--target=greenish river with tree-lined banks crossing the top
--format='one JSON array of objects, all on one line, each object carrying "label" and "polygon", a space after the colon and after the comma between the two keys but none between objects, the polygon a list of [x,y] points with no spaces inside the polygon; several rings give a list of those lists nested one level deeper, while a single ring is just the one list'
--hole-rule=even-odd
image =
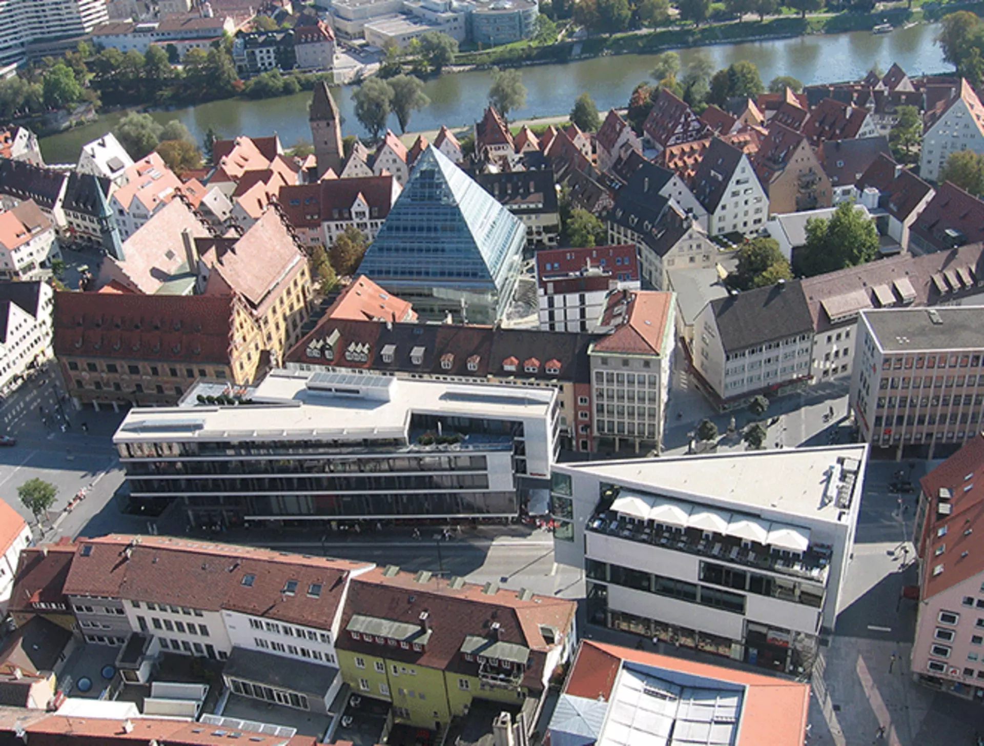
[{"label": "greenish river with tree-lined banks crossing the top", "polygon": [[[741,44],[720,44],[679,50],[684,65],[703,48],[715,68],[737,60],[754,62],[765,83],[779,75],[791,75],[803,83],[816,84],[856,80],[876,64],[888,70],[892,62],[909,75],[940,73],[948,69],[943,53],[934,41],[938,25],[919,25],[886,34],[854,31],[830,35],[799,36]],[[590,93],[601,111],[624,106],[636,84],[645,81],[654,55],[626,54],[523,68],[526,105],[511,112],[514,119],[549,116],[569,111],[575,98]],[[447,124],[455,129],[469,125],[481,115],[490,85],[487,70],[443,75],[426,82],[424,90],[430,105],[413,114],[410,129],[427,131]],[[367,134],[355,119],[351,89],[335,89],[342,115],[342,133]],[[339,95],[340,93],[340,95]],[[202,141],[209,127],[220,137],[239,134],[264,136],[277,132],[284,147],[310,142],[307,107],[310,93],[253,101],[228,99],[200,106],[154,113],[165,122],[180,119],[196,140]],[[97,122],[44,138],[41,151],[49,163],[78,160],[83,145],[116,126],[122,113],[107,114]],[[391,127],[397,128],[396,117]]]}]

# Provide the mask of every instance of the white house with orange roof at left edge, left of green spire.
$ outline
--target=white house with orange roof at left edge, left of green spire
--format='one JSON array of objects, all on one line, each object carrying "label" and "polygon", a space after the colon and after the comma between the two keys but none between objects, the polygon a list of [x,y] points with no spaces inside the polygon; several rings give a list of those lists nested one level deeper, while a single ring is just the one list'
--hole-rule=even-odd
[{"label": "white house with orange roof at left edge, left of green spire", "polygon": [[61,259],[55,226],[33,200],[0,213],[0,279],[33,280]]}]

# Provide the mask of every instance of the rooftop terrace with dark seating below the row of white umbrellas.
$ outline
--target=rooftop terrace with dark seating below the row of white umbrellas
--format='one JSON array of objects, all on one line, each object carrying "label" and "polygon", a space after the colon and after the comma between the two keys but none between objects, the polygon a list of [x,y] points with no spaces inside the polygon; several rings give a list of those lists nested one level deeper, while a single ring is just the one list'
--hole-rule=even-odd
[{"label": "rooftop terrace with dark seating below the row of white umbrellas", "polygon": [[703,531],[695,528],[670,530],[651,523],[631,521],[610,511],[591,518],[587,530],[827,585],[830,551],[816,545],[802,555],[782,554],[760,544],[743,546],[741,540],[734,536],[712,533],[707,538]]}]

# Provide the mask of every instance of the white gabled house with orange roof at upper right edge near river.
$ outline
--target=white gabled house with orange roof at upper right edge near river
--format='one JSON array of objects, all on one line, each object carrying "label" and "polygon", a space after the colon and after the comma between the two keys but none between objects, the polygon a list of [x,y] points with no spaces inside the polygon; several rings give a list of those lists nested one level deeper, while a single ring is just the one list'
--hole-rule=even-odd
[{"label": "white gabled house with orange roof at upper right edge near river", "polygon": [[984,154],[984,105],[963,78],[950,100],[927,122],[919,175],[936,181],[947,158],[959,151]]}]

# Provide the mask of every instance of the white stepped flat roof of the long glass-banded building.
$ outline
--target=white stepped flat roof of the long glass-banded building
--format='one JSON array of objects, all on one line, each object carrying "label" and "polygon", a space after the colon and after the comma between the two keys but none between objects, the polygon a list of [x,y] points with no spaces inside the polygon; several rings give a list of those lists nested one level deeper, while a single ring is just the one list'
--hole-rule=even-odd
[{"label": "white stepped flat roof of the long glass-banded building", "polygon": [[134,408],[113,441],[403,438],[411,413],[548,417],[555,397],[553,389],[277,370],[256,388],[256,404]]}]

